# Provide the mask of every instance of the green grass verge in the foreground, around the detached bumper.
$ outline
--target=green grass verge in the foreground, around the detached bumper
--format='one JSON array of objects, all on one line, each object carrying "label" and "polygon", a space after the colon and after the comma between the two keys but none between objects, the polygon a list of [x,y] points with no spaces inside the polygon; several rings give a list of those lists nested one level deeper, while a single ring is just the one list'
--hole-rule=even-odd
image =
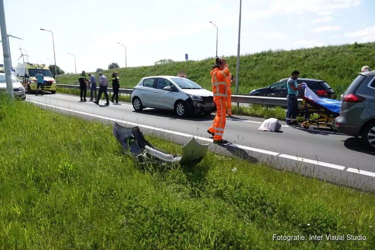
[{"label": "green grass verge in the foreground, around the detached bumper", "polygon": [[[373,193],[210,152],[196,166],[144,169],[111,129],[0,99],[0,248],[375,247]],[[366,240],[272,240],[329,233]]]}]

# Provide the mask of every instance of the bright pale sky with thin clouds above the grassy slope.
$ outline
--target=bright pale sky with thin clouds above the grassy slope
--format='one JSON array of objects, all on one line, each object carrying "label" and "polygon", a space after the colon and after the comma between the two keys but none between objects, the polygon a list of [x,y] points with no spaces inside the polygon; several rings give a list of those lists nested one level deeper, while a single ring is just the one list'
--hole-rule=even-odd
[{"label": "bright pale sky with thin clouds above the grassy slope", "polygon": [[[66,72],[237,53],[239,0],[4,0],[13,67],[53,60]],[[375,0],[242,0],[240,53],[375,41]],[[2,47],[1,61],[2,61]],[[22,58],[18,60],[22,62]]]}]

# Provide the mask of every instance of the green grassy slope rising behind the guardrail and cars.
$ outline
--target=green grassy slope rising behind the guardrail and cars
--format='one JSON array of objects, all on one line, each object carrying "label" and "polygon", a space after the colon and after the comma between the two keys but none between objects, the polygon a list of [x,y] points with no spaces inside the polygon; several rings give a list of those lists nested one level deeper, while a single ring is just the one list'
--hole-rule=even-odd
[{"label": "green grassy slope rising behind the guardrail and cars", "polygon": [[[236,57],[226,56],[231,72],[235,75]],[[300,71],[299,77],[318,78],[325,80],[335,90],[336,97],[346,89],[363,65],[375,67],[375,42],[354,43],[326,47],[297,49],[290,51],[263,51],[240,56],[239,94],[269,84],[285,77],[291,71]],[[185,69],[188,77],[206,89],[211,89],[209,71],[213,64],[212,58],[200,61],[170,62],[161,65],[118,68],[121,87],[132,88],[144,76],[176,75],[180,69]],[[113,70],[104,70],[107,77]],[[58,76],[58,82],[73,84],[78,74],[64,74]],[[233,86],[233,92],[235,87]],[[58,88],[58,92],[77,94],[76,90]],[[128,101],[129,97],[120,98]],[[248,107],[233,110],[234,113],[251,114],[258,117],[275,117],[285,119],[284,111],[260,111],[258,107]],[[266,115],[264,115],[266,113]]]}]

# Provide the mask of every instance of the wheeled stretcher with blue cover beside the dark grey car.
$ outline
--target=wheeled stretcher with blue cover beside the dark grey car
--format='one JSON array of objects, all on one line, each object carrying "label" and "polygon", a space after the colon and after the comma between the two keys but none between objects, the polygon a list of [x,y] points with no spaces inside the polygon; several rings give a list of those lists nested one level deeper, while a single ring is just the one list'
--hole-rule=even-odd
[{"label": "wheeled stretcher with blue cover beside the dark grey car", "polygon": [[298,116],[304,117],[302,127],[306,129],[314,125],[317,128],[330,128],[334,131],[334,119],[340,115],[340,107],[340,100],[318,97],[306,87]]}]

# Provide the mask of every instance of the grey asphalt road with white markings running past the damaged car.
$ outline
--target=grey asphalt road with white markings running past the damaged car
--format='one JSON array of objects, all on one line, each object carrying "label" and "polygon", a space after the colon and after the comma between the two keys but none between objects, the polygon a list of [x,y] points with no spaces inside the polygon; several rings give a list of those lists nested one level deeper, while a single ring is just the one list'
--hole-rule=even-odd
[{"label": "grey asphalt road with white markings running past the damaged car", "polygon": [[[212,142],[206,132],[213,115],[194,115],[180,119],[172,112],[146,108],[136,113],[130,103],[100,105],[80,102],[78,96],[64,94],[27,95],[26,99],[42,108],[73,113],[105,122],[127,122],[138,125],[145,134],[163,135],[184,144],[190,136],[200,143]],[[375,152],[362,148],[360,139],[331,131],[304,129],[283,125],[281,132],[258,131],[264,119],[237,116],[227,119],[224,139],[226,146],[210,143],[210,150],[235,155],[253,162],[265,161],[281,169],[315,176],[329,182],[360,189],[375,188]],[[157,145],[155,145],[157,146]]]}]

